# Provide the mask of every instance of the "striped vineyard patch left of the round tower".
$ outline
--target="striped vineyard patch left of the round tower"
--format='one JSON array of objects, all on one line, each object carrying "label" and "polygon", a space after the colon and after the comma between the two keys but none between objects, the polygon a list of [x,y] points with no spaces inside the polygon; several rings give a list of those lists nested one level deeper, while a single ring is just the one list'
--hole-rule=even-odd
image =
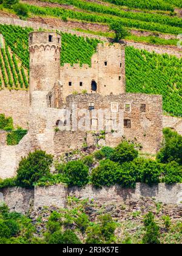
[{"label": "striped vineyard patch left of the round tower", "polygon": [[[0,25],[0,31],[5,38],[5,42],[1,40],[0,87],[26,89],[29,87],[29,82],[28,73],[25,69],[28,66],[25,65],[25,62],[29,62],[29,59],[24,59],[25,48],[22,47],[22,42],[15,41],[17,29],[15,27],[15,30],[13,30],[12,26]],[[19,37],[21,38],[20,35],[21,33],[19,33]],[[29,58],[29,55],[27,57]]]}]

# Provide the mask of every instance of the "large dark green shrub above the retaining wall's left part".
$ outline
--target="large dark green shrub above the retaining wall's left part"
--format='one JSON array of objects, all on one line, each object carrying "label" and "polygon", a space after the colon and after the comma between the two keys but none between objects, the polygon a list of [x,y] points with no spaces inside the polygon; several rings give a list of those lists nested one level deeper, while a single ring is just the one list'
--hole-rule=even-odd
[{"label": "large dark green shrub above the retaining wall's left part", "polygon": [[52,165],[52,155],[47,155],[44,151],[35,151],[28,157],[22,158],[17,170],[17,183],[20,187],[33,187],[41,177],[50,173]]}]

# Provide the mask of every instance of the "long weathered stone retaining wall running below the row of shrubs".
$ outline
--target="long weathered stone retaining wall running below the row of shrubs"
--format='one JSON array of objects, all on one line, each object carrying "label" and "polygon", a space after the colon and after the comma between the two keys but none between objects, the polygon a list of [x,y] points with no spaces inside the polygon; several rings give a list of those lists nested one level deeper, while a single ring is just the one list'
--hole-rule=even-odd
[{"label": "long weathered stone retaining wall running below the row of shrubs", "polygon": [[35,189],[25,188],[4,188],[0,190],[0,204],[5,202],[10,211],[27,213],[39,207],[67,207],[67,196],[75,196],[78,199],[93,199],[101,205],[109,203],[125,204],[130,201],[137,201],[141,197],[150,197],[156,202],[163,204],[177,204],[182,202],[182,183],[166,185],[159,183],[149,187],[143,183],[137,183],[136,188],[121,188],[118,185],[112,187],[95,188],[86,185],[84,188],[65,185],[53,185],[50,187],[36,187]]}]

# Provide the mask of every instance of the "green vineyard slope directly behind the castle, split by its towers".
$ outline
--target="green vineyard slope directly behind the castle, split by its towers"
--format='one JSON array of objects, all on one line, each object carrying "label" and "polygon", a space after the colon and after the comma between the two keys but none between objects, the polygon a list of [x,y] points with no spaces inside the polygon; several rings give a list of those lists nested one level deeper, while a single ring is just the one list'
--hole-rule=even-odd
[{"label": "green vineyard slope directly behind the castle, split by its towers", "polygon": [[[22,65],[29,68],[28,34],[30,28],[1,25],[1,33],[4,35],[7,45],[18,55]],[[98,40],[84,39],[76,35],[62,33],[61,65],[63,63],[87,63],[95,52]],[[4,49],[5,56],[7,47]],[[1,72],[5,73],[3,55],[0,59]],[[15,63],[15,54],[12,61]],[[12,71],[9,65],[9,72]],[[14,69],[17,72],[17,66]],[[8,72],[8,71],[7,71]],[[21,68],[19,74],[23,74]],[[167,54],[160,55],[140,51],[132,47],[126,48],[126,90],[132,93],[162,94],[164,112],[175,116],[182,116],[182,59]],[[17,76],[18,77],[18,76]],[[24,87],[27,88],[25,75],[21,76]],[[11,83],[11,80],[6,80]],[[12,75],[13,81],[13,75]],[[16,79],[14,80],[18,82]]]}]

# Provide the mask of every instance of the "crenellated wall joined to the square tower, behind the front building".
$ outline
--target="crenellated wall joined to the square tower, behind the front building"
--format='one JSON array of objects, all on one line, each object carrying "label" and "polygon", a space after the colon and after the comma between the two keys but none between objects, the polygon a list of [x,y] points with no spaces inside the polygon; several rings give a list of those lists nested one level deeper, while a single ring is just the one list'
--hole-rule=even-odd
[{"label": "crenellated wall joined to the square tower, behind the front building", "polygon": [[[96,83],[96,90],[92,82]],[[96,54],[93,54],[91,67],[79,64],[64,64],[61,67],[63,98],[74,93],[100,93],[109,95],[125,92],[125,50],[124,44],[99,43]]]}]

